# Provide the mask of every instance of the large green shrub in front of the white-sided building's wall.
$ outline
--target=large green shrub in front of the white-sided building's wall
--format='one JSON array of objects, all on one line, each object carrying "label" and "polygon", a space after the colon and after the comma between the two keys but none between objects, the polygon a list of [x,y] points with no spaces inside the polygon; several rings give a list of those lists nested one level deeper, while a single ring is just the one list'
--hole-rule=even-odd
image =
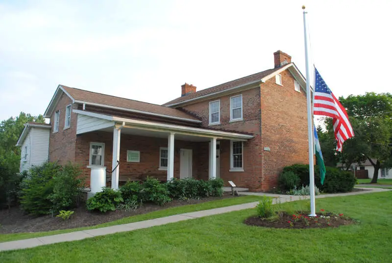
[{"label": "large green shrub in front of the white-sided building's wall", "polygon": [[21,191],[21,207],[30,214],[48,214],[52,209],[49,196],[53,193],[52,177],[61,166],[48,162],[32,167],[24,179]]}]

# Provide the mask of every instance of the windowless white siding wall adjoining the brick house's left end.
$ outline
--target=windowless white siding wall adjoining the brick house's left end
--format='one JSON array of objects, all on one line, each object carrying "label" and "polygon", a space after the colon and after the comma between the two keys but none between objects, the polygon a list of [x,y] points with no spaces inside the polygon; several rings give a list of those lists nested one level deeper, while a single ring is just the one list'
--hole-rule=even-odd
[{"label": "windowless white siding wall adjoining the brick house's left end", "polygon": [[31,158],[30,165],[41,165],[48,161],[49,155],[49,132],[50,129],[34,128],[30,129],[31,137]]}]

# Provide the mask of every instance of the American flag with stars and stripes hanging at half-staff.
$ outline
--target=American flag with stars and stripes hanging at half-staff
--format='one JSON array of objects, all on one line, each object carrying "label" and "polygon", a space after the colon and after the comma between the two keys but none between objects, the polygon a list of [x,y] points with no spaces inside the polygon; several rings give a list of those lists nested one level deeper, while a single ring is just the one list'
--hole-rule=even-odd
[{"label": "American flag with stars and stripes hanging at half-staff", "polygon": [[334,125],[335,139],[337,140],[336,150],[342,152],[343,142],[354,136],[347,112],[332,91],[328,88],[324,79],[315,68],[315,97],[314,114],[332,117]]}]

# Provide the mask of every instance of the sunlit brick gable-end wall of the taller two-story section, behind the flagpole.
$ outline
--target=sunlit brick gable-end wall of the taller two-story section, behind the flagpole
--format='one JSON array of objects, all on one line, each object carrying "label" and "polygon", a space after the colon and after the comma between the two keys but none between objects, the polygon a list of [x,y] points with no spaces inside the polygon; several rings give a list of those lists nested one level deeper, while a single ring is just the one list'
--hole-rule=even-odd
[{"label": "sunlit brick gable-end wall of the taller two-story section, behind the flagpole", "polygon": [[263,150],[262,190],[276,186],[283,167],[308,162],[306,94],[294,90],[289,71],[281,73],[282,86],[275,78],[261,84],[261,118]]}]

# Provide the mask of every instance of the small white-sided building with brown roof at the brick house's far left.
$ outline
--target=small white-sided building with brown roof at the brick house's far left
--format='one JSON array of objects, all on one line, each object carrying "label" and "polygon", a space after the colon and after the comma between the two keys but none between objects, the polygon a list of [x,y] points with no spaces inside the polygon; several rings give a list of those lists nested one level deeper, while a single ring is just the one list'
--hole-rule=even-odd
[{"label": "small white-sided building with brown roof at the brick house's far left", "polygon": [[21,146],[20,171],[48,161],[50,124],[27,122],[16,146]]}]

